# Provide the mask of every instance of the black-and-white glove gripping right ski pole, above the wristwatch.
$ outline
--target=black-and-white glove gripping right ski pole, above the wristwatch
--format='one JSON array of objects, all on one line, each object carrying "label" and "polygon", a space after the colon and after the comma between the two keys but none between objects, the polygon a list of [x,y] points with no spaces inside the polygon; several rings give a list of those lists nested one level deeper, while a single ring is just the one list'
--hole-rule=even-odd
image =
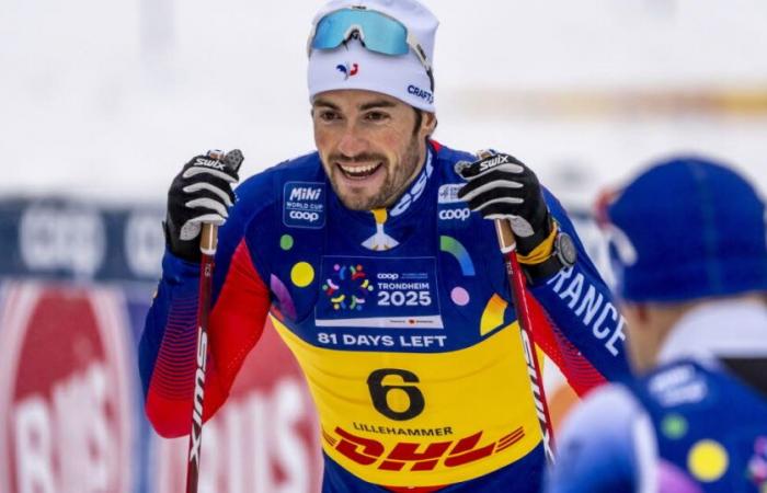
[{"label": "black-and-white glove gripping right ski pole, above the wristwatch", "polygon": [[461,161],[456,165],[469,182],[458,192],[458,198],[485,219],[508,219],[517,251],[527,255],[551,234],[552,228],[538,177],[513,156],[484,153],[472,163]]}]

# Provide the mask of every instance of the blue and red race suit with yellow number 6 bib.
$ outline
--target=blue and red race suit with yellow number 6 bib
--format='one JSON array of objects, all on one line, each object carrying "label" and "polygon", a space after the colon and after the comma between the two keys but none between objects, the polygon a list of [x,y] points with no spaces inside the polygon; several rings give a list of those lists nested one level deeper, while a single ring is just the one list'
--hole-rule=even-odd
[{"label": "blue and red race suit with yellow number 6 bib", "polygon": [[[206,419],[268,317],[317,405],[324,492],[537,491],[545,459],[516,313],[492,221],[456,197],[460,160],[474,158],[430,141],[387,210],[346,209],[316,152],[238,187],[216,255]],[[530,288],[547,326],[536,342],[585,391],[628,371],[623,320],[546,199],[580,257]],[[164,436],[188,433],[197,278],[165,253],[140,344],[146,411]]]}]

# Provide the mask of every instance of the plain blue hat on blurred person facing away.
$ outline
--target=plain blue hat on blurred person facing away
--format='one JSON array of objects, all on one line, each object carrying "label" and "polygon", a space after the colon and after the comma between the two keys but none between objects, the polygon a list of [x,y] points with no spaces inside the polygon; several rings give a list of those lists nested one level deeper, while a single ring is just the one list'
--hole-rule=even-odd
[{"label": "plain blue hat on blurred person facing away", "polygon": [[606,215],[626,300],[767,293],[765,204],[722,164],[698,157],[660,162],[631,182]]}]

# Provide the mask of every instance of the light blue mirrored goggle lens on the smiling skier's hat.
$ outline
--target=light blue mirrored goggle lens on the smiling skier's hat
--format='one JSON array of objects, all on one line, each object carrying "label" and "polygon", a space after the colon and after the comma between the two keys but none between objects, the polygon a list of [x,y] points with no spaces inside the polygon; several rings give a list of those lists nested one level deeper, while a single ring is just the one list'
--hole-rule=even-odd
[{"label": "light blue mirrored goggle lens on the smiling skier's hat", "polygon": [[331,12],[317,24],[311,47],[333,49],[358,31],[365,47],[384,55],[404,55],[408,46],[408,30],[394,19],[380,12],[366,10],[339,10]]}]

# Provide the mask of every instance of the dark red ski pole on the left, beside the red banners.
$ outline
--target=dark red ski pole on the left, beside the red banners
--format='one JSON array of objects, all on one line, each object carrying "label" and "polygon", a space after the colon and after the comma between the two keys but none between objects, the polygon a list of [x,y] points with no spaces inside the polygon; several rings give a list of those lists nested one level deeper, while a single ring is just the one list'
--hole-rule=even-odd
[{"label": "dark red ski pole on the left, beside the red banners", "polygon": [[[222,160],[224,165],[238,170],[242,163],[242,152],[232,150],[224,156],[221,151],[209,151],[208,157]],[[192,405],[192,431],[186,462],[186,493],[197,492],[199,479],[199,456],[203,444],[203,402],[205,398],[205,366],[208,348],[208,317],[210,314],[210,296],[213,293],[213,271],[215,266],[218,227],[203,223],[199,233],[199,298],[197,305],[197,369],[194,376],[194,400]]]}]

